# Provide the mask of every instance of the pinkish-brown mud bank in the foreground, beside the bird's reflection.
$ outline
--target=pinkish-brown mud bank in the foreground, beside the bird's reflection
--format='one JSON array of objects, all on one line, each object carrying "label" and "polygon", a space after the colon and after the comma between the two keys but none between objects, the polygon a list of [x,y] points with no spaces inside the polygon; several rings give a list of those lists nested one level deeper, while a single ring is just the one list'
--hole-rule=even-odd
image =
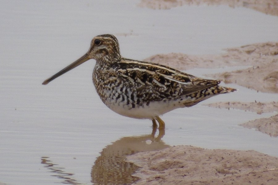
[{"label": "pinkish-brown mud bank in the foreground, beside the bird's reflection", "polygon": [[277,184],[278,158],[238,150],[172,146],[141,152],[128,160],[142,167],[141,184]]}]

